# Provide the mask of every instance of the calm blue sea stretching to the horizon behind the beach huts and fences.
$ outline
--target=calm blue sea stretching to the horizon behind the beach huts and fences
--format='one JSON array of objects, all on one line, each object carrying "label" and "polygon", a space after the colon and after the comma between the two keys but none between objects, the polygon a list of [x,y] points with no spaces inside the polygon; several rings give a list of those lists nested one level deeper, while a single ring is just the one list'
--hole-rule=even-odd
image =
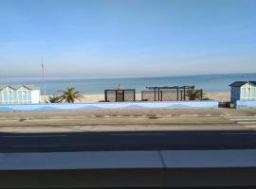
[{"label": "calm blue sea stretching to the horizon behind the beach huts and fences", "polygon": [[[146,86],[195,85],[205,92],[229,92],[229,84],[235,80],[256,80],[256,74],[229,74],[191,77],[140,77],[140,78],[69,78],[46,79],[46,94],[56,94],[66,87],[76,87],[82,94],[103,94],[104,89],[113,89],[120,83],[123,88],[135,88],[137,93]],[[0,84],[34,84],[41,89],[41,78],[0,77]]]}]

